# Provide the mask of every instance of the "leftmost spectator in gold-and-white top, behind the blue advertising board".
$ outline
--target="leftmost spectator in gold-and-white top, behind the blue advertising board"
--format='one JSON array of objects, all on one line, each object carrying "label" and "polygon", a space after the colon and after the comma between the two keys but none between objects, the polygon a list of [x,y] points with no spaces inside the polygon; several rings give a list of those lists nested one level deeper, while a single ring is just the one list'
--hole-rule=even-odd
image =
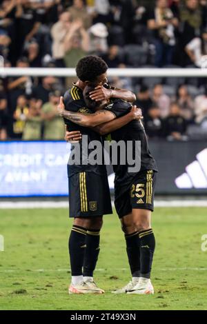
[{"label": "leftmost spectator in gold-and-white top, behind the blue advertising board", "polygon": [[14,111],[13,134],[14,138],[21,139],[28,115],[28,101],[26,96],[21,95],[17,99],[17,108]]}]

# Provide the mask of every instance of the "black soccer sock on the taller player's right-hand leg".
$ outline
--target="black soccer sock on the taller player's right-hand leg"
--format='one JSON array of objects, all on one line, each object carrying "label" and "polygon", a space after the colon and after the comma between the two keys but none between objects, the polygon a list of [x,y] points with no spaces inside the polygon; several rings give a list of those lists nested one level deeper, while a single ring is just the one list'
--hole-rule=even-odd
[{"label": "black soccer sock on the taller player's right-hand leg", "polygon": [[83,276],[93,276],[99,256],[100,231],[88,230],[86,236],[86,250],[83,263]]}]

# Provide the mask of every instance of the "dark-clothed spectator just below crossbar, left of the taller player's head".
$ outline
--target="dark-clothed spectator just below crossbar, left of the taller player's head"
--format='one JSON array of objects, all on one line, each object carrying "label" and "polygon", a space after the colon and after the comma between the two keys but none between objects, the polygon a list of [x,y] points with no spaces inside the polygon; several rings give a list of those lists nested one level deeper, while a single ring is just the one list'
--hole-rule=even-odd
[{"label": "dark-clothed spectator just below crossbar, left of the taller player's head", "polygon": [[40,99],[43,103],[49,101],[50,92],[54,91],[57,85],[57,79],[52,76],[43,77],[42,83],[33,88],[34,98]]}]

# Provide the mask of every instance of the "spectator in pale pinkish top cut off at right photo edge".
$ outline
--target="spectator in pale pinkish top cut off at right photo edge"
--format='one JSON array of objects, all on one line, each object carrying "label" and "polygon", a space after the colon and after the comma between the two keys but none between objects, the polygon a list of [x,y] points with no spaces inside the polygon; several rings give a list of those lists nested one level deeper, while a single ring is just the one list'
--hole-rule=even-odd
[{"label": "spectator in pale pinkish top cut off at right photo edge", "polygon": [[195,98],[195,121],[201,124],[207,117],[207,85],[204,86],[204,94]]}]

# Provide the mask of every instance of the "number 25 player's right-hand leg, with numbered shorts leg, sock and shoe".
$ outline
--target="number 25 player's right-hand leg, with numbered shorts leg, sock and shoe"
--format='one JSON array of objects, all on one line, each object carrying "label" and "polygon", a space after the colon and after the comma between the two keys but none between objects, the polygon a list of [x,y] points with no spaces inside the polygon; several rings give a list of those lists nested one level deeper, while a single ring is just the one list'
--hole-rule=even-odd
[{"label": "number 25 player's right-hand leg, with numbered shorts leg, sock and shoe", "polygon": [[132,185],[132,223],[139,232],[140,279],[129,294],[153,294],[150,281],[152,260],[155,252],[155,235],[151,227],[156,174],[151,170],[142,173]]}]

